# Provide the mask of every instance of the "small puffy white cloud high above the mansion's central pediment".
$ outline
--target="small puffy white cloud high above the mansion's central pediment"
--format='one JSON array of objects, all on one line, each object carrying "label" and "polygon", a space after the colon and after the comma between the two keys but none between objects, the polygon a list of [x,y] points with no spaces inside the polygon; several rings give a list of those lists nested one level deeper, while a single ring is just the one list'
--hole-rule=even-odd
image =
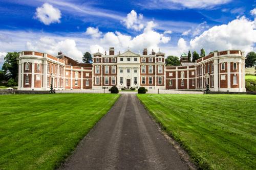
[{"label": "small puffy white cloud high above the mansion's central pediment", "polygon": [[137,15],[137,12],[132,10],[127,17],[124,18],[121,22],[124,23],[127,29],[133,29],[135,31],[140,31],[144,28],[142,23],[143,15]]}]

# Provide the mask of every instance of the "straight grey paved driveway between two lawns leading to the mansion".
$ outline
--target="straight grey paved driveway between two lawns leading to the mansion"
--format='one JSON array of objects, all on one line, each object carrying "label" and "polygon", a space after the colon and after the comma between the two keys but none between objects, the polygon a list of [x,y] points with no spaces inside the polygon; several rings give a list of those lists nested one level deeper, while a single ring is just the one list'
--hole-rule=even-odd
[{"label": "straight grey paved driveway between two lawns leading to the mansion", "polygon": [[122,94],[60,169],[188,169],[135,94]]}]

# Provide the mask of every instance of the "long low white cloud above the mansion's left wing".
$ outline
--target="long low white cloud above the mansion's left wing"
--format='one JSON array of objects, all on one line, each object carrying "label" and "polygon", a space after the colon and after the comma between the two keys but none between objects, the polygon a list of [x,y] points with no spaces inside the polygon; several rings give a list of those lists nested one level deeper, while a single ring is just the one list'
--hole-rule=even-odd
[{"label": "long low white cloud above the mansion's left wing", "polygon": [[61,51],[65,55],[79,60],[83,56],[82,52],[77,49],[75,40],[69,38],[57,41],[51,37],[41,37],[38,41],[33,43],[28,41],[26,48],[31,51],[48,53],[53,56],[56,56],[57,53]]}]

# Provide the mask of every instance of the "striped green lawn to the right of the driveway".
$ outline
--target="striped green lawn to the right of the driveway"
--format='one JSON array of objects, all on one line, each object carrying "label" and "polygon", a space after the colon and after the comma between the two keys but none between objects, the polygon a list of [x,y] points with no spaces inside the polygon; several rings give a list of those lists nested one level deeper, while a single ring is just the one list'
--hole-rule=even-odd
[{"label": "striped green lawn to the right of the driveway", "polygon": [[256,95],[138,94],[202,169],[256,169]]}]

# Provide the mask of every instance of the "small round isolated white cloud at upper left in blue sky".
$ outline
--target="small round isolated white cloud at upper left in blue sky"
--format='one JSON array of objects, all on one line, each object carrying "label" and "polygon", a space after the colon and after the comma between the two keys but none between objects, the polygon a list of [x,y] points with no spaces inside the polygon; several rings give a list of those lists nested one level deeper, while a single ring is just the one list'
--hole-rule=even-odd
[{"label": "small round isolated white cloud at upper left in blue sky", "polygon": [[60,22],[61,13],[59,9],[54,8],[52,5],[45,3],[41,7],[36,8],[35,18],[39,19],[45,25],[50,25],[51,23]]}]

